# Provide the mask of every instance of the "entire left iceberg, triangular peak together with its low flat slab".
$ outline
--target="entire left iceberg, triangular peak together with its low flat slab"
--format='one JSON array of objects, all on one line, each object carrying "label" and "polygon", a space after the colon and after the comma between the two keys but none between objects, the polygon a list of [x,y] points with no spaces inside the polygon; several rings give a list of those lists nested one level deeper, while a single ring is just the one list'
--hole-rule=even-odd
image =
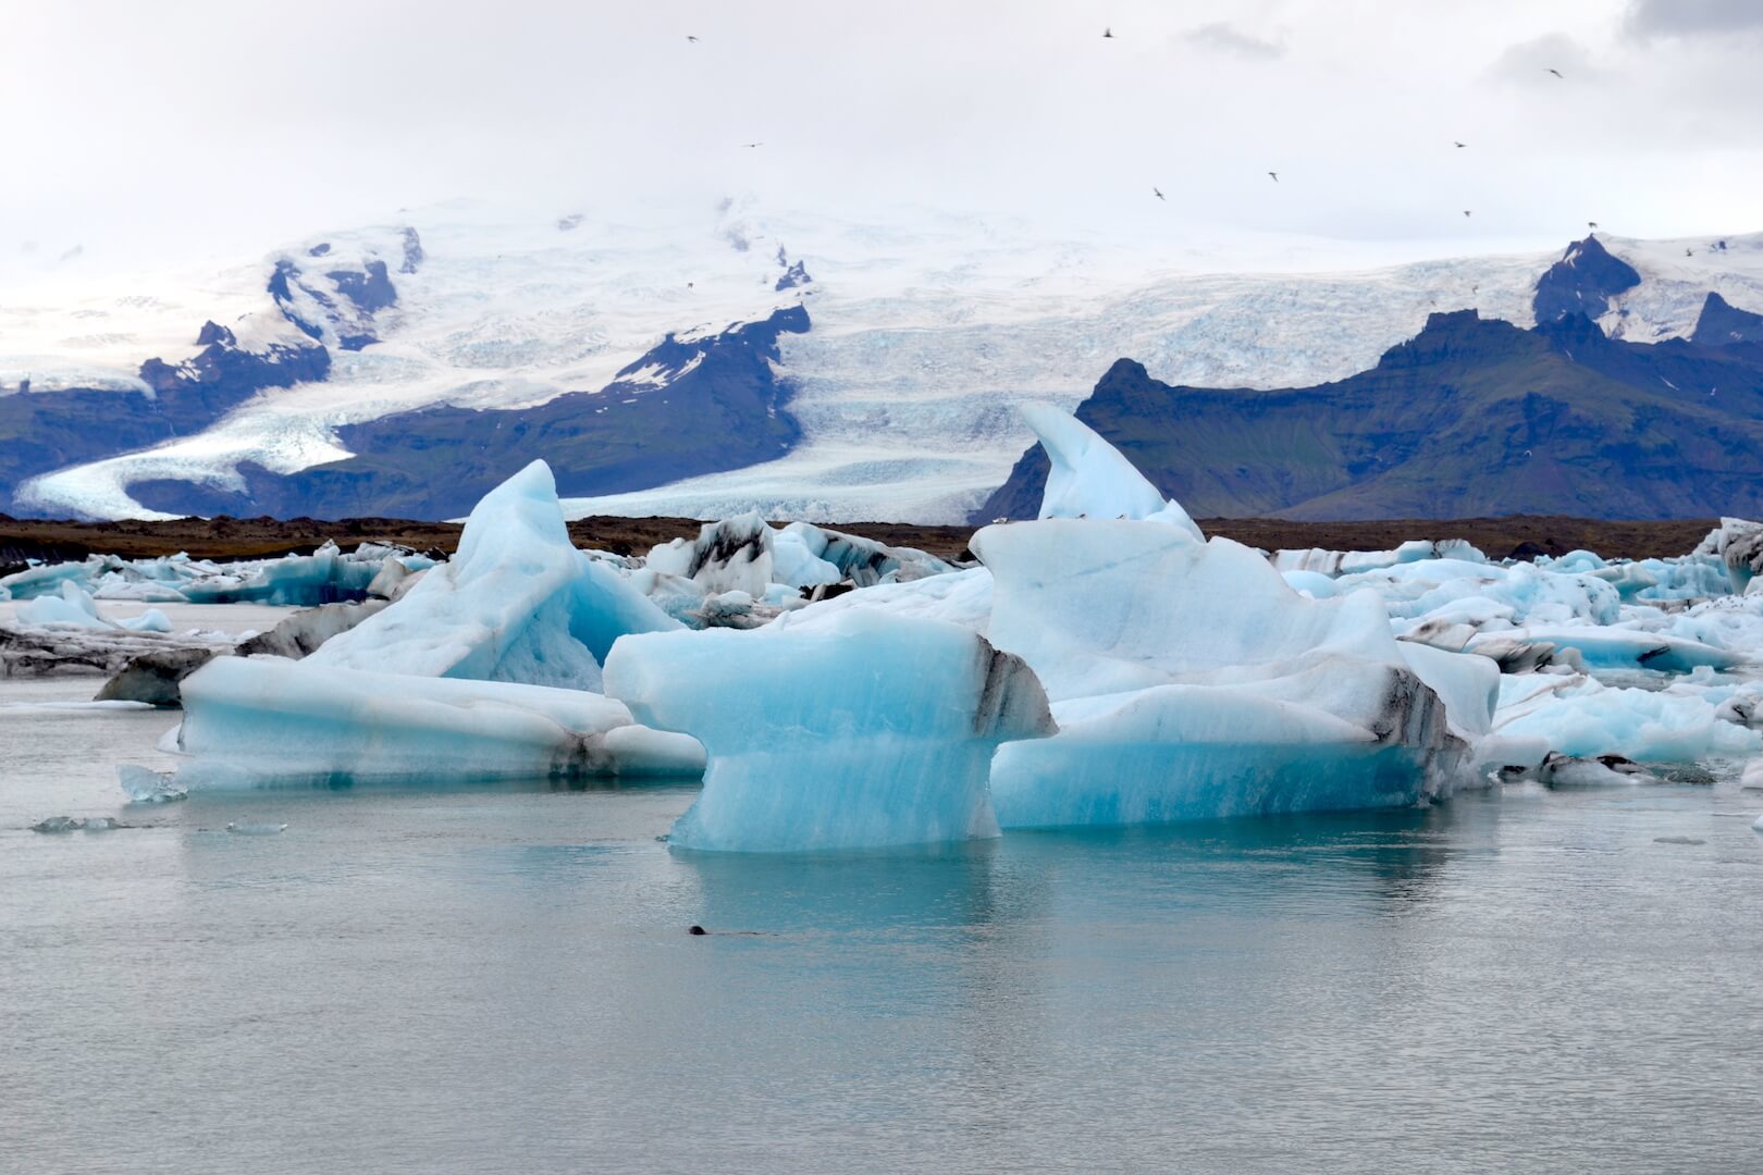
[{"label": "entire left iceberg, triangular peak together with its low flat slab", "polygon": [[679,627],[575,550],[534,462],[483,497],[453,560],[303,659],[217,657],[183,678],[180,780],[695,775],[698,743],[592,692],[614,641]]}]

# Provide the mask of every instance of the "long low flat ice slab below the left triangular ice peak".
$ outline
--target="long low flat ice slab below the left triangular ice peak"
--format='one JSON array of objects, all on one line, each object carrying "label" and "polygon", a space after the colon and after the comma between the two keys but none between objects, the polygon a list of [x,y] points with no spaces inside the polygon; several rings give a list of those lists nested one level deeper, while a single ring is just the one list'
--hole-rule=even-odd
[{"label": "long low flat ice slab below the left triangular ice peak", "polygon": [[695,775],[689,738],[612,736],[629,710],[601,694],[508,682],[217,657],[183,682],[187,787],[310,779],[453,780]]}]

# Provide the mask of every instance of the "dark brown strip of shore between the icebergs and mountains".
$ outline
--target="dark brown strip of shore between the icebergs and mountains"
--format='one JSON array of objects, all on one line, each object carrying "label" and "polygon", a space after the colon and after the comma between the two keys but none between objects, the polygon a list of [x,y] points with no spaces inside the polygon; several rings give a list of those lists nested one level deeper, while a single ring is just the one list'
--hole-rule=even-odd
[{"label": "dark brown strip of shore between the icebergs and mountains", "polygon": [[[1622,521],[1514,514],[1511,518],[1396,520],[1396,521],[1285,521],[1280,518],[1201,518],[1206,534],[1222,534],[1266,550],[1320,546],[1338,551],[1380,551],[1407,539],[1469,539],[1490,558],[1566,555],[1585,548],[1606,558],[1648,558],[1689,553],[1717,525],[1715,518]],[[589,516],[569,523],[580,548],[642,555],[658,543],[696,536],[691,518]],[[917,527],[911,523],[839,523],[848,534],[892,546],[917,546],[943,558],[966,558],[975,527]],[[358,543],[451,553],[457,523],[405,518],[178,518],[173,521],[53,521],[0,514],[0,573],[28,558],[62,562],[86,555],[152,558],[187,551],[194,558],[266,558],[310,553],[326,541],[342,548]]]}]

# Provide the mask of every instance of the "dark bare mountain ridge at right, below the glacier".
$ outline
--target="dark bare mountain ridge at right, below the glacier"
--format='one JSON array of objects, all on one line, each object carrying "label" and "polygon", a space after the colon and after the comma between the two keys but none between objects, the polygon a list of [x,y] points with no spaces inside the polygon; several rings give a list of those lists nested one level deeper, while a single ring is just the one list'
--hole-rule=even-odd
[{"label": "dark bare mountain ridge at right, below the glacier", "polygon": [[[1529,331],[1435,314],[1375,368],[1312,388],[1176,388],[1121,359],[1077,416],[1195,516],[1763,509],[1758,352],[1618,342],[1580,314]],[[1031,518],[1044,483],[1031,449],[973,518]]]}]

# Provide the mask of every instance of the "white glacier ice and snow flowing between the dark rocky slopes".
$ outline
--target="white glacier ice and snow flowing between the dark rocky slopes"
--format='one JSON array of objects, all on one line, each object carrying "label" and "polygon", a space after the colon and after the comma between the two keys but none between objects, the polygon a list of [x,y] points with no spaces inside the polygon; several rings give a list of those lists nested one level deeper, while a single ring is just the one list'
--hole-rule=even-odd
[{"label": "white glacier ice and snow flowing between the dark rocky slopes", "polygon": [[[342,456],[338,425],[428,403],[518,407],[596,391],[668,331],[719,329],[800,299],[815,329],[783,338],[800,449],[571,500],[571,516],[758,509],[811,521],[961,521],[1031,442],[1014,405],[1070,409],[1120,356],[1178,384],[1340,379],[1412,336],[1433,310],[1479,307],[1529,326],[1536,278],[1558,257],[1412,261],[1410,250],[1391,264],[1389,252],[1248,238],[1148,254],[1105,234],[1054,240],[1026,224],[924,210],[874,224],[732,204],[647,224],[589,215],[559,233],[555,215],[455,204],[409,222],[427,261],[414,275],[393,273],[398,305],[381,314],[383,344],[335,352],[324,384],[266,393],[197,437],[51,474],[30,493],[46,509],[141,514],[130,479],[236,488],[242,460],[287,472]],[[397,261],[398,229],[316,234],[222,273],[12,291],[0,307],[0,384],[28,372],[33,388],[132,386],[141,359],[194,352],[205,319],[263,345],[268,328],[252,324],[272,321],[263,287],[277,257],[309,273]],[[1601,240],[1647,278],[1620,299],[1627,336],[1687,333],[1708,289],[1763,307],[1763,234],[1728,238],[1724,254],[1700,252],[1705,241]],[[331,255],[305,257],[319,241]],[[811,285],[772,289],[779,245],[807,264]],[[1694,257],[1682,257],[1685,245]]]}]

